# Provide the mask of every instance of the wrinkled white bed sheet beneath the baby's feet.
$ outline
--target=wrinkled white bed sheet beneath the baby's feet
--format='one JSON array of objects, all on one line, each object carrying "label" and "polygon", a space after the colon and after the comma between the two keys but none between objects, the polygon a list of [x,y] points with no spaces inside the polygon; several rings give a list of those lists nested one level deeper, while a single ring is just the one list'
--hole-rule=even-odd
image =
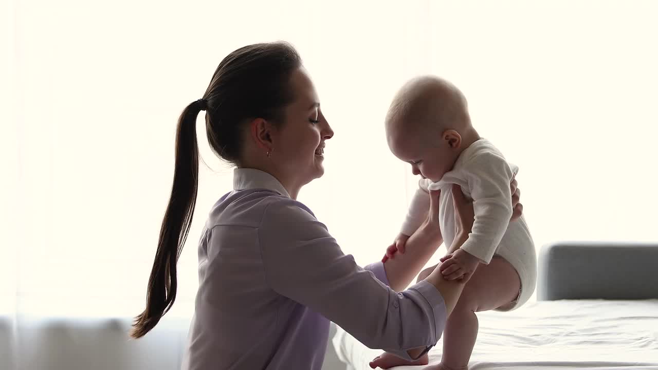
[{"label": "wrinkled white bed sheet beneath the baby's feet", "polygon": [[[471,370],[658,370],[658,300],[532,302],[516,311],[478,313],[478,319]],[[381,351],[337,329],[338,357],[369,370],[368,361]],[[440,362],[441,352],[440,340],[430,350],[430,365]]]}]

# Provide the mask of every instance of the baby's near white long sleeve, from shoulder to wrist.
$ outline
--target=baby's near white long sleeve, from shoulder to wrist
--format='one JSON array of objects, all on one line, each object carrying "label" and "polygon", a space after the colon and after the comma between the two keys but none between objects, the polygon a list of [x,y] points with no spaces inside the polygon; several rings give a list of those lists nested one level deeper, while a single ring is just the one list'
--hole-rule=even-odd
[{"label": "baby's near white long sleeve, from shoulder to wrist", "polygon": [[509,184],[514,172],[503,157],[482,153],[465,166],[475,219],[461,249],[490,263],[512,217]]}]

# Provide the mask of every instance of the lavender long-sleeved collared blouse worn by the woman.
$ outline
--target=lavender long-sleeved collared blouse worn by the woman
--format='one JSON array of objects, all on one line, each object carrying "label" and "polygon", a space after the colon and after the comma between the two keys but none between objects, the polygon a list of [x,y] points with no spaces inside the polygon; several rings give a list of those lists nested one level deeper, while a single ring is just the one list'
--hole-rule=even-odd
[{"label": "lavender long-sleeved collared blouse worn by the woman", "polygon": [[199,240],[182,369],[320,370],[330,321],[410,359],[440,338],[445,305],[425,281],[394,292],[381,262],[359,267],[274,176],[236,169]]}]

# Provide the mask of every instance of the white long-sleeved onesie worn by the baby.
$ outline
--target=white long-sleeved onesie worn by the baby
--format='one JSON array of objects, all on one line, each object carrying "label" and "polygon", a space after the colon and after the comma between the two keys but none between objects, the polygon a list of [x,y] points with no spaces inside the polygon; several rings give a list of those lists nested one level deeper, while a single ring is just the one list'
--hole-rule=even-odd
[{"label": "white long-sleeved onesie worn by the baby", "polygon": [[537,282],[537,257],[528,225],[524,217],[509,222],[512,216],[509,184],[517,170],[488,140],[474,142],[461,153],[455,167],[446,172],[440,181],[420,180],[401,230],[403,234],[413,234],[427,217],[430,207],[428,190],[441,190],[439,222],[443,242],[450,246],[455,240],[455,207],[451,186],[461,186],[465,196],[473,200],[475,212],[472,232],[461,249],[486,264],[490,263],[493,255],[499,255],[519,273],[519,298],[515,304],[505,307],[505,311],[526,303]]}]

